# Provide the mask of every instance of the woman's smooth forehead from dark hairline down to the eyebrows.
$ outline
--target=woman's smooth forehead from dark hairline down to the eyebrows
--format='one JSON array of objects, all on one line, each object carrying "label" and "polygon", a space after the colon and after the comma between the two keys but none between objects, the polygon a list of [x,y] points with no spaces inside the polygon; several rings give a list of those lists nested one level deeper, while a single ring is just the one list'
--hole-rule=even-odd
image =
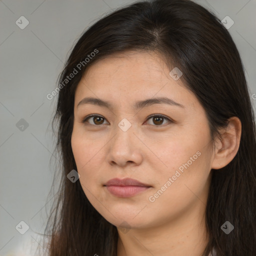
[{"label": "woman's smooth forehead from dark hairline down to the eyebrows", "polygon": [[111,55],[85,70],[76,88],[75,102],[77,104],[85,96],[119,103],[125,100],[130,104],[131,100],[134,102],[153,96],[169,96],[184,104],[196,100],[169,72],[164,60],[153,52],[129,51]]}]

